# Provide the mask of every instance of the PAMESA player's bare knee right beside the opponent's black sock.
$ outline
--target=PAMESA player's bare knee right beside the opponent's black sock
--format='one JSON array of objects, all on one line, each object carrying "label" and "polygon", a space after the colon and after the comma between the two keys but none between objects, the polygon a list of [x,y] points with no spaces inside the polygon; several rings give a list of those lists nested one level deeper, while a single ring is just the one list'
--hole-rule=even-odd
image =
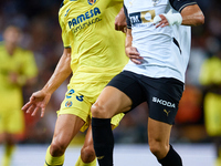
[{"label": "PAMESA player's bare knee right beside the opponent's black sock", "polygon": [[81,151],[81,157],[84,163],[91,163],[95,158],[95,151],[93,146],[83,147]]}]

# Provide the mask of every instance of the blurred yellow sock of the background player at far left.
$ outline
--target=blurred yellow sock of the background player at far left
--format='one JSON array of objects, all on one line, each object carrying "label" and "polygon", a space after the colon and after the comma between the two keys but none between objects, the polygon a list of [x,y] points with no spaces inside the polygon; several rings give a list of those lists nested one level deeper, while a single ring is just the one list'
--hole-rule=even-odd
[{"label": "blurred yellow sock of the background player at far left", "polygon": [[14,145],[6,145],[1,166],[10,166],[14,147]]}]

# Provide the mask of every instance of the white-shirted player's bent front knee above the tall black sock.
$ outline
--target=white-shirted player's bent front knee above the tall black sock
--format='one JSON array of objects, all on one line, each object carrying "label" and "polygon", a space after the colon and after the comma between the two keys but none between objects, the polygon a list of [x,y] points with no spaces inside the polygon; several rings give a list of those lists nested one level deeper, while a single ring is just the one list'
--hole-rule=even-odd
[{"label": "white-shirted player's bent front knee above the tall black sock", "polygon": [[97,118],[110,118],[108,117],[107,108],[101,103],[94,103],[92,105],[92,116]]}]

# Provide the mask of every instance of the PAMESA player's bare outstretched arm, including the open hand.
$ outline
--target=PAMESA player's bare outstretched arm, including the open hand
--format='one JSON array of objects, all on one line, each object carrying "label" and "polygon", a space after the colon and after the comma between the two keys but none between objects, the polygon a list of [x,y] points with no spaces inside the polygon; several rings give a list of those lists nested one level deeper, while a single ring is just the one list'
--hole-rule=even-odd
[{"label": "PAMESA player's bare outstretched arm, including the open hand", "polygon": [[22,107],[24,112],[31,113],[31,115],[34,116],[36,112],[41,110],[41,117],[44,116],[45,107],[51,98],[51,95],[72,73],[70,63],[71,48],[64,49],[63,55],[61,56],[54,73],[41,91],[32,94],[30,101]]}]

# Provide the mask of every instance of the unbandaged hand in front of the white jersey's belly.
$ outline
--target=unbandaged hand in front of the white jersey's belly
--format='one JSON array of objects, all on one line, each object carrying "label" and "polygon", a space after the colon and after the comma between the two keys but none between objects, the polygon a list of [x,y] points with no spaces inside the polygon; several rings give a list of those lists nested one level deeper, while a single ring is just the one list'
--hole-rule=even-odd
[{"label": "unbandaged hand in front of the white jersey's belly", "polygon": [[143,60],[144,58],[140,56],[139,52],[134,46],[126,48],[126,55],[130,59],[131,62],[136,64],[141,64],[139,60]]}]

